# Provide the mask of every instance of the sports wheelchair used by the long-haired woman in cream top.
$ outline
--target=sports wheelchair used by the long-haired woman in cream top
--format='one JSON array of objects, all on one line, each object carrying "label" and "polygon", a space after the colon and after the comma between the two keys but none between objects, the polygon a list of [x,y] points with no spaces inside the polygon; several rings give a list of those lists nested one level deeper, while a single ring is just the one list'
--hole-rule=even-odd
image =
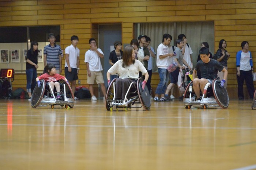
[{"label": "sports wheelchair used by the long-haired woman in cream top", "polygon": [[[106,93],[105,97],[105,106],[106,109],[109,111],[113,110],[113,106],[116,106],[116,109],[118,108],[125,108],[125,111],[128,111],[128,108],[144,108],[146,111],[150,109],[151,106],[151,99],[150,99],[150,93],[148,91],[147,86],[145,86],[144,90],[142,90],[142,79],[138,79],[137,86],[135,86],[135,83],[131,83],[129,86],[129,89],[125,95],[124,100],[119,100],[115,98],[115,92],[116,86],[115,86],[116,78],[110,82],[108,91]],[[132,91],[133,89],[133,91]],[[131,92],[130,92],[131,90]],[[127,99],[128,92],[130,92],[130,99]]]}]

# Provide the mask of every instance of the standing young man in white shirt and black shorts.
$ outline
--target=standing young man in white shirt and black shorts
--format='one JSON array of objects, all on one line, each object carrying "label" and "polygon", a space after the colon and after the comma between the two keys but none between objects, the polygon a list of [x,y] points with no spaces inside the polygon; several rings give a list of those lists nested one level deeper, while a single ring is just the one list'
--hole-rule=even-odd
[{"label": "standing young man in white shirt and black shorts", "polygon": [[[71,90],[74,94],[79,73],[80,50],[76,47],[78,40],[78,36],[71,36],[71,45],[65,49],[65,77],[69,81],[69,84],[71,84]],[[74,99],[79,100],[77,97]]]}]

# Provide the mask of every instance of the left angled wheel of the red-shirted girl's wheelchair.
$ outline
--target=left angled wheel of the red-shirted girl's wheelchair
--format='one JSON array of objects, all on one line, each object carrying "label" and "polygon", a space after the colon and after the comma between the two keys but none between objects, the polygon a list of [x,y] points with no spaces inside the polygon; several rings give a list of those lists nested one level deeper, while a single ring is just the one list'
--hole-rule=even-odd
[{"label": "left angled wheel of the red-shirted girl's wheelchair", "polygon": [[32,97],[31,97],[31,106],[33,108],[36,108],[40,103],[44,96],[45,92],[45,80],[40,80],[41,87],[39,88],[37,85],[35,86],[35,89],[33,91]]}]

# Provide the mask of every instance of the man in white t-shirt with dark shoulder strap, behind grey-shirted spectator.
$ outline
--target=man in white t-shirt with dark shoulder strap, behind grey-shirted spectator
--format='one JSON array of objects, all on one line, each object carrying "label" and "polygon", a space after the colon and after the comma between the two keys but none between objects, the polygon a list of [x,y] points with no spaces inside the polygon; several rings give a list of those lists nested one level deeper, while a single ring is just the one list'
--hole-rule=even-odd
[{"label": "man in white t-shirt with dark shoulder strap, behind grey-shirted spectator", "polygon": [[193,54],[193,51],[191,50],[191,47],[187,43],[188,40],[187,40],[186,36],[184,34],[180,34],[180,35],[178,35],[178,39],[182,39],[184,42],[184,48],[182,48],[183,58],[188,63],[188,65],[191,68],[193,68],[193,59],[192,59],[192,55],[191,55],[191,54]]}]

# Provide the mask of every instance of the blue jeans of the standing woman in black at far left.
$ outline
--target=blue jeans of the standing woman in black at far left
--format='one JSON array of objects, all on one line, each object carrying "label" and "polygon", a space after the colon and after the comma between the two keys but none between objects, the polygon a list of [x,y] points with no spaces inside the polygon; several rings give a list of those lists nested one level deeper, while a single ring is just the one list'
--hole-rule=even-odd
[{"label": "blue jeans of the standing woman in black at far left", "polygon": [[26,75],[27,75],[27,92],[32,92],[34,90],[35,85],[37,85],[37,82],[35,81],[35,78],[37,78],[37,69],[31,68],[26,69]]}]

